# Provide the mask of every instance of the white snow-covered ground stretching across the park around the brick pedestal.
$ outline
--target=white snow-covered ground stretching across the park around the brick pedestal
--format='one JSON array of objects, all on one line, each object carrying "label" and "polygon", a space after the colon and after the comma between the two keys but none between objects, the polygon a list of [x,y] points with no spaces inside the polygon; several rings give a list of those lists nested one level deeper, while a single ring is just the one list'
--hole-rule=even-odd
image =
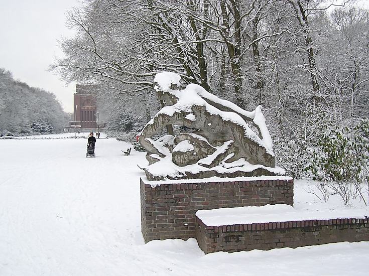
[{"label": "white snow-covered ground stretching across the park around the brick pedestal", "polygon": [[[0,140],[1,276],[368,275],[369,242],[208,255],[193,238],[145,244],[136,166],[145,154],[100,139],[85,158],[85,139],[41,137]],[[369,213],[336,196],[322,203],[309,184],[295,181],[295,209]]]}]

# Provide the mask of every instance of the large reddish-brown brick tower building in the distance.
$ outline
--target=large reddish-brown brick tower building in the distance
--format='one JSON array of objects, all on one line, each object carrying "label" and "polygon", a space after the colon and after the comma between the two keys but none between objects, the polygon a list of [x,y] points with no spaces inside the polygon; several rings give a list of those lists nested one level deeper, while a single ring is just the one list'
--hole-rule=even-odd
[{"label": "large reddish-brown brick tower building in the distance", "polygon": [[92,130],[97,128],[98,111],[94,93],[96,84],[76,84],[74,93],[74,111],[73,121],[70,121],[70,127],[81,130]]}]

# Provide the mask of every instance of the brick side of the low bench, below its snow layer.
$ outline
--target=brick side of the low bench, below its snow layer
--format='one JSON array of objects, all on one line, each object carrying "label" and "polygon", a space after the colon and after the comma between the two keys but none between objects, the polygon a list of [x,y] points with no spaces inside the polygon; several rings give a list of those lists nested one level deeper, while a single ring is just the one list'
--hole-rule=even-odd
[{"label": "brick side of the low bench, below its snow layer", "polygon": [[369,219],[330,219],[206,226],[196,217],[205,253],[268,250],[342,241],[369,241]]}]

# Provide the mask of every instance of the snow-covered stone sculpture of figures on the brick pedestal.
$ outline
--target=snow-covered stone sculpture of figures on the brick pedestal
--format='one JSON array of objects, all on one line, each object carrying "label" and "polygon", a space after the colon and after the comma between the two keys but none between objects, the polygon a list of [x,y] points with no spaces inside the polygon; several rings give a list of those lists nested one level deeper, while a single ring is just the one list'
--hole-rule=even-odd
[{"label": "snow-covered stone sculpture of figures on the brick pedestal", "polygon": [[[159,73],[154,79],[154,89],[165,106],[140,135],[139,141],[148,152],[148,180],[284,174],[275,168],[272,139],[261,106],[245,111],[197,84],[179,90],[180,79],[170,72]],[[153,139],[171,124],[196,131]]]}]

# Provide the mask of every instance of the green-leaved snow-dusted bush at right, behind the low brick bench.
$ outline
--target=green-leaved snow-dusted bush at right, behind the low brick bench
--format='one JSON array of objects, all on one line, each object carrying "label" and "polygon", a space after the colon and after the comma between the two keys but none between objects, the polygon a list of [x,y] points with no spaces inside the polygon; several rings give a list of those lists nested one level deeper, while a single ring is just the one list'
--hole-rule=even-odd
[{"label": "green-leaved snow-dusted bush at right, behind the low brick bench", "polygon": [[344,204],[360,196],[366,204],[362,184],[369,178],[369,121],[352,128],[328,127],[318,137],[306,169],[319,181],[320,191],[333,191]]}]

